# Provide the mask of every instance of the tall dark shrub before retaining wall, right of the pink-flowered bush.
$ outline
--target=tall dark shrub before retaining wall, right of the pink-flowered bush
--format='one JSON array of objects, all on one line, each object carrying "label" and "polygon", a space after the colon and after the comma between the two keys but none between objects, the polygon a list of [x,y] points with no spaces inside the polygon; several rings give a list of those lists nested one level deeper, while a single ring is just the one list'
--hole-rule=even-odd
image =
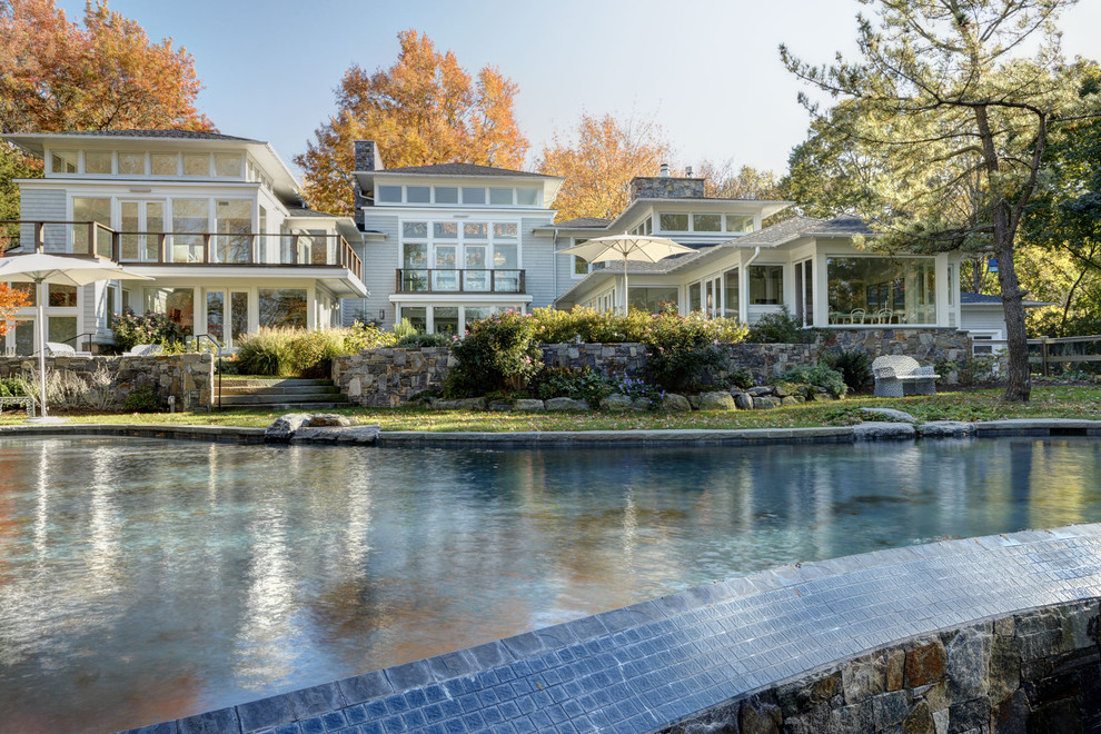
[{"label": "tall dark shrub before retaining wall, right of the pink-flowered bush", "polygon": [[726,354],[712,337],[710,319],[693,314],[659,314],[651,318],[646,340],[646,376],[657,387],[676,393],[695,387],[708,370],[726,366]]}]

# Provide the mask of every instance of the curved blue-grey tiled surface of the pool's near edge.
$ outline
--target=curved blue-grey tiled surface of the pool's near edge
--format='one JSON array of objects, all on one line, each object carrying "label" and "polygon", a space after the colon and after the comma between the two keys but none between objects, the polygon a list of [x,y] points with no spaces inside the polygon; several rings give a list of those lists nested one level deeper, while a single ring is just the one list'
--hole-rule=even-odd
[{"label": "curved blue-grey tiled surface of the pool's near edge", "polygon": [[887,645],[1099,598],[1101,524],[945,540],[774,568],[130,733],[665,730]]}]

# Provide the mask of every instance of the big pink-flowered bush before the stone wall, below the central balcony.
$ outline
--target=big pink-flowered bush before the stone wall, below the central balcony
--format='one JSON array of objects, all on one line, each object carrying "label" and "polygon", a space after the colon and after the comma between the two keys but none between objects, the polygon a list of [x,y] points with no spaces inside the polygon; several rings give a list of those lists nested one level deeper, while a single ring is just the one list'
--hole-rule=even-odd
[{"label": "big pink-flowered bush before the stone wall, below the central balcony", "polygon": [[512,309],[470,325],[455,341],[456,364],[444,380],[444,397],[460,398],[516,390],[542,367],[534,343],[535,321]]}]

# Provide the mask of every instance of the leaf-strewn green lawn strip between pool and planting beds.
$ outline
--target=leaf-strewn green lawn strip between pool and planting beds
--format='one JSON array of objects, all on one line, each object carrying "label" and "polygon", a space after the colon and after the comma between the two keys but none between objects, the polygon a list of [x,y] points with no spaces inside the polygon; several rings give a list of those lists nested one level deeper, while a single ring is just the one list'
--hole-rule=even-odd
[{"label": "leaf-strewn green lawn strip between pool and planting beds", "polygon": [[[773,410],[661,413],[483,413],[426,408],[340,408],[363,424],[383,430],[627,430],[661,428],[795,428],[859,423],[861,407],[905,410],[919,420],[995,420],[999,418],[1090,418],[1101,420],[1101,386],[1038,386],[1032,400],[1006,404],[1002,390],[966,390],[907,398],[851,397]],[[69,416],[72,423],[176,424],[265,427],[282,411],[224,410],[210,413],[96,414]],[[56,415],[66,415],[58,413]],[[6,410],[0,425],[23,421]]]}]

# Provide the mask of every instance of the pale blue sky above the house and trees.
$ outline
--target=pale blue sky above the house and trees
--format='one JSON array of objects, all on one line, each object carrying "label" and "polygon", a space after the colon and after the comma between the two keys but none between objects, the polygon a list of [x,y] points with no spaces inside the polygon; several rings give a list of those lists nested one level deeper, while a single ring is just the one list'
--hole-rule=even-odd
[{"label": "pale blue sky above the house and trees", "polygon": [[[59,0],[70,18],[83,0]],[[112,0],[150,38],[195,57],[199,107],[229,135],[267,140],[292,165],[335,111],[334,88],[354,62],[397,58],[415,28],[474,73],[496,65],[519,86],[515,101],[532,147],[579,115],[652,120],[677,166],[704,159],[783,172],[803,140],[803,87],[783,68],[787,43],[810,61],[855,49],[855,0]],[[1068,56],[1101,59],[1101,2],[1064,14]],[[386,158],[386,151],[383,151]]]}]

